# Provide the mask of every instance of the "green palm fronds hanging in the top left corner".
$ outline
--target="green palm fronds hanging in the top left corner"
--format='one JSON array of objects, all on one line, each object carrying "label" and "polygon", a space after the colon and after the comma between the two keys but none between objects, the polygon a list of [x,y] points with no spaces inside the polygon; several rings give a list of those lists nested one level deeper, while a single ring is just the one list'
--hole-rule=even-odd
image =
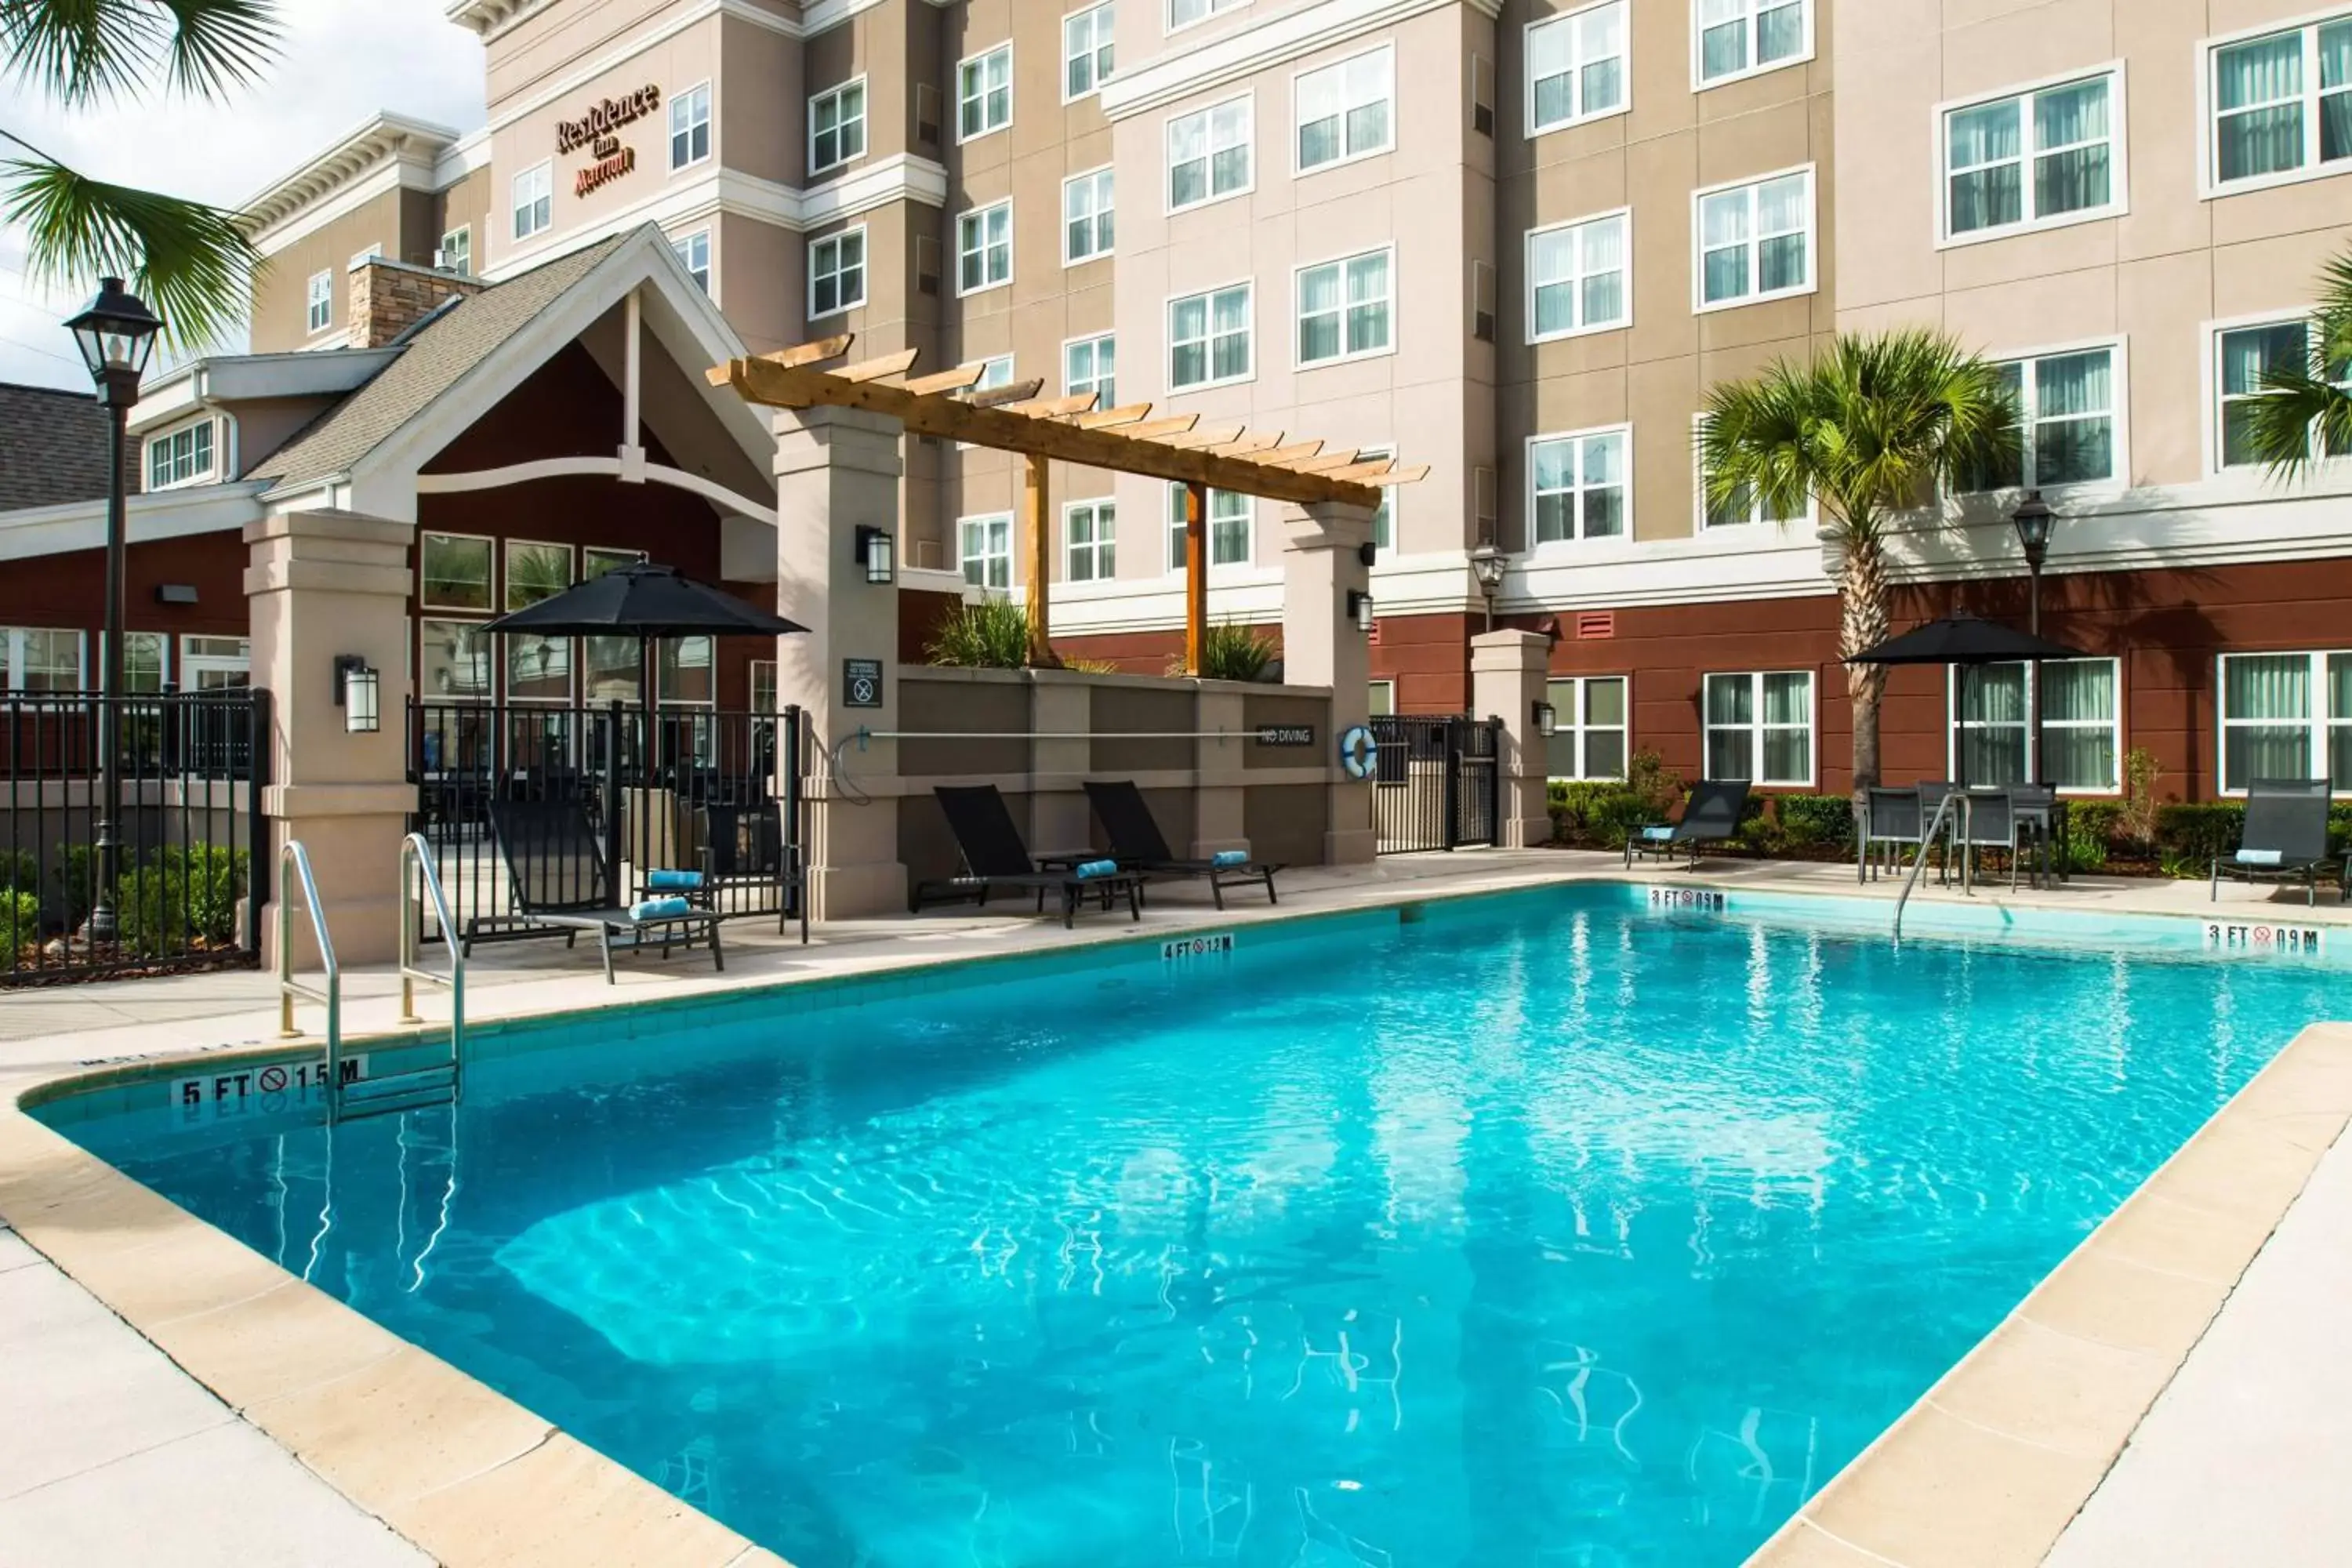
[{"label": "green palm fronds hanging in the top left corner", "polygon": [[[278,0],[0,0],[0,75],[73,110],[155,85],[219,96],[252,82],[278,38]],[[35,280],[132,277],[183,350],[242,320],[261,256],[235,214],[89,179],[7,127],[0,141],[0,219],[24,226]]]}]

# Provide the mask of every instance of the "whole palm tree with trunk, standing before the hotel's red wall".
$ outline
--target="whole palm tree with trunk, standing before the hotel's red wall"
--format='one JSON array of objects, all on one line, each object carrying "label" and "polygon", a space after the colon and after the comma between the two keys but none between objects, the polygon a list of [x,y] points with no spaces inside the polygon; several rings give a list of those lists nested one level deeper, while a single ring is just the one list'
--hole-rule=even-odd
[{"label": "whole palm tree with trunk, standing before the hotel's red wall", "polygon": [[[1806,364],[1776,362],[1708,393],[1700,463],[1712,508],[1795,517],[1820,503],[1820,536],[1842,548],[1837,646],[1853,658],[1891,625],[1886,529],[1938,491],[1994,470],[2018,444],[2002,374],[1926,329],[1842,334]],[[1846,665],[1853,698],[1853,799],[1879,783],[1882,665]]]}]

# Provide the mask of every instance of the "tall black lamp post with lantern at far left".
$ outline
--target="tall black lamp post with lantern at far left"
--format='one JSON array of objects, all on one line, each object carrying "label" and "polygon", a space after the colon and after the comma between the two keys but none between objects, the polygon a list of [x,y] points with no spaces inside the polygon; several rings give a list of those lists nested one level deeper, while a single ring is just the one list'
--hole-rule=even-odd
[{"label": "tall black lamp post with lantern at far left", "polygon": [[115,922],[115,875],[120,872],[115,813],[122,811],[122,552],[127,529],[127,496],[122,489],[122,447],[132,404],[139,402],[139,378],[146,374],[148,355],[155,353],[155,334],[162,317],[141,303],[136,294],[122,289],[120,277],[101,277],[99,292],[82,306],[82,313],[66,322],[82,364],[99,386],[99,407],[106,409],[106,656],[99,665],[99,867],[89,898],[89,943],[113,943]]}]

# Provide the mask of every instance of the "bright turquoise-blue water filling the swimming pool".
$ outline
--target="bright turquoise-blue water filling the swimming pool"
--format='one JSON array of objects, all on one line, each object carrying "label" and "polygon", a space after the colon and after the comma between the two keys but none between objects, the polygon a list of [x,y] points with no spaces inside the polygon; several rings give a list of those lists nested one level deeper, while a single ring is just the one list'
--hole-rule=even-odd
[{"label": "bright turquoise-blue water filling the swimming pool", "polygon": [[1583,889],[54,1114],[802,1568],[1729,1568],[2340,992]]}]

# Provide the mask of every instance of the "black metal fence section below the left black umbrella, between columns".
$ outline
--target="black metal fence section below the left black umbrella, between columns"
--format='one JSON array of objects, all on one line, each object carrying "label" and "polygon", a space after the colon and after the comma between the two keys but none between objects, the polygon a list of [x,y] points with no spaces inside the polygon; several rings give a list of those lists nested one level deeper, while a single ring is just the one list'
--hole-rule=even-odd
[{"label": "black metal fence section below the left black umbrella, between columns", "polygon": [[[703,870],[722,914],[802,917],[807,722],[783,712],[541,703],[409,703],[414,832],[433,846],[459,936],[553,936],[517,910],[492,816],[501,802],[576,806],[630,903],[652,870]],[[419,938],[440,926],[412,898]]]}]

